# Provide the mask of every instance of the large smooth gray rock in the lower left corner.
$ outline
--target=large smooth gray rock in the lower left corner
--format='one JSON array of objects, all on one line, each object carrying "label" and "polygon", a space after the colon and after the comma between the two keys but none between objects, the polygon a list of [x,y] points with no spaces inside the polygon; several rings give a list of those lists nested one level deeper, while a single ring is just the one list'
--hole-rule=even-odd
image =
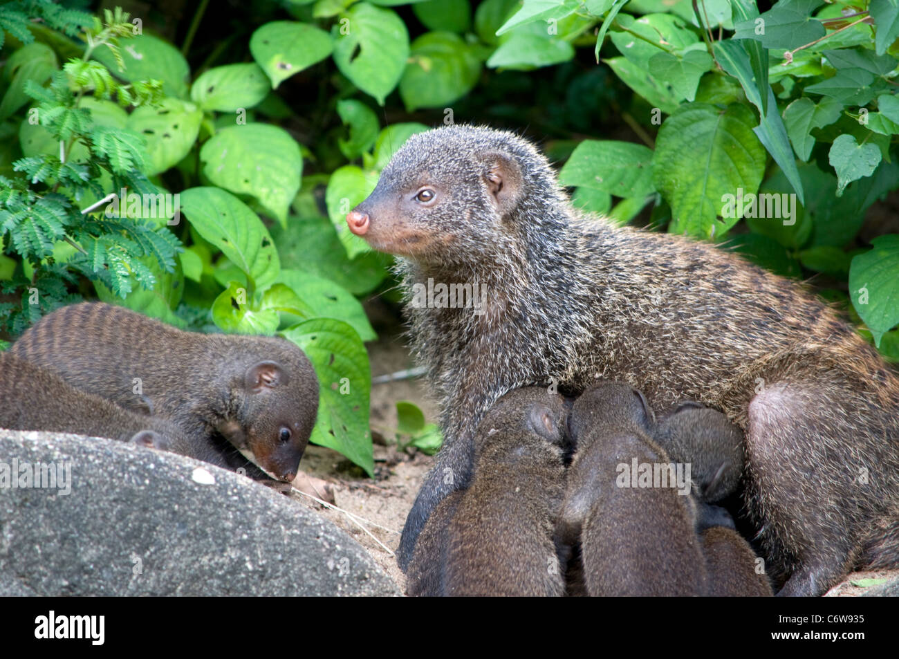
[{"label": "large smooth gray rock in the lower left corner", "polygon": [[[25,463],[59,480],[13,487],[16,461],[17,485]],[[118,441],[5,430],[0,577],[0,595],[399,594],[331,521],[245,476]]]}]

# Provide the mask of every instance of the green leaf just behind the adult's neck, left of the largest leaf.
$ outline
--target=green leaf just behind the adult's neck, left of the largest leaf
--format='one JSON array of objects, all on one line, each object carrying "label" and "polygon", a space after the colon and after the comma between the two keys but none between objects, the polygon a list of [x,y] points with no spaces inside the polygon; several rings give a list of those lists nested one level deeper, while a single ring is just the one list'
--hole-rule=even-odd
[{"label": "green leaf just behind the adult's neck, left of the largest leaf", "polygon": [[640,144],[585,139],[559,172],[559,183],[616,197],[645,197],[655,190],[652,161],[652,149]]}]

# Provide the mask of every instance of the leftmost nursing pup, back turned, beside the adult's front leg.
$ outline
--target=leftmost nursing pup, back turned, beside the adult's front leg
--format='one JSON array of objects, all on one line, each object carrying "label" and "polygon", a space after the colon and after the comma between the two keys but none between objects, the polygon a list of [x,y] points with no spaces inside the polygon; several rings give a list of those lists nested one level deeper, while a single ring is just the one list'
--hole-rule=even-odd
[{"label": "leftmost nursing pup, back turned, beside the adult's front leg", "polygon": [[425,525],[410,595],[565,594],[554,539],[565,415],[562,396],[541,387],[496,402],[477,428],[471,485],[444,499]]}]

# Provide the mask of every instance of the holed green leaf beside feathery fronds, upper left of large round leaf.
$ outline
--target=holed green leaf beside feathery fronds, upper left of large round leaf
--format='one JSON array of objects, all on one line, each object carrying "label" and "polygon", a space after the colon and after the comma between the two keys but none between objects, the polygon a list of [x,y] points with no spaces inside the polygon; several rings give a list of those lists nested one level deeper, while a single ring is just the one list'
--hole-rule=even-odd
[{"label": "holed green leaf beside feathery fronds, upper left of large round leaf", "polygon": [[144,174],[162,174],[181,162],[200,133],[202,118],[200,108],[176,98],[165,98],[156,107],[141,105],[131,112],[128,128],[147,141],[148,162]]}]

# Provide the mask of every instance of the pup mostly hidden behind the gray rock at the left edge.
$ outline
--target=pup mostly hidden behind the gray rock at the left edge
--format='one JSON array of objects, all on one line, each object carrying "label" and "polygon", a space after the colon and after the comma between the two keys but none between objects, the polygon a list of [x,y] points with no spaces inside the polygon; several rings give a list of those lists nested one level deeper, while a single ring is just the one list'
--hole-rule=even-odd
[{"label": "pup mostly hidden behind the gray rock at the left edge", "polygon": [[178,452],[191,448],[174,423],[129,412],[8,352],[0,352],[0,399],[0,428],[72,432]]}]

